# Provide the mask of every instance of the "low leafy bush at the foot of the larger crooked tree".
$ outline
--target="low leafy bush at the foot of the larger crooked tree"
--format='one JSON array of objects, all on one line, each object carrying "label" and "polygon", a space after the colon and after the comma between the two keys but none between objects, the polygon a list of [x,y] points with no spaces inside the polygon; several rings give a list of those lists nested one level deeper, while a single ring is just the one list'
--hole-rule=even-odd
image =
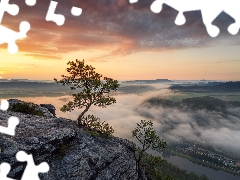
[{"label": "low leafy bush at the foot of the larger crooked tree", "polygon": [[109,126],[105,121],[100,121],[99,118],[93,115],[83,117],[79,125],[84,127],[94,137],[99,136],[99,134],[109,137],[114,133],[112,126]]}]

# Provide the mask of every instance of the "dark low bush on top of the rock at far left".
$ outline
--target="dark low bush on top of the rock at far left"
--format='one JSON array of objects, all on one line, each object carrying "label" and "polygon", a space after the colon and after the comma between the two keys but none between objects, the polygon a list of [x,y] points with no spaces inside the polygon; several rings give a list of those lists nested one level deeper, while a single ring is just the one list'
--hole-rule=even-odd
[{"label": "dark low bush on top of the rock at far left", "polygon": [[44,116],[43,112],[34,107],[32,103],[15,103],[10,109],[15,112]]}]

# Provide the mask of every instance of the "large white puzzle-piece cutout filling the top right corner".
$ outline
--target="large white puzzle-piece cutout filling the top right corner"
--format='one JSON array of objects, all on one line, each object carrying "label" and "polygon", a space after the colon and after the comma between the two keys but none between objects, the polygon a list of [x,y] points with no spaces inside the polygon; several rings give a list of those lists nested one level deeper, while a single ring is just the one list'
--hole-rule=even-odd
[{"label": "large white puzzle-piece cutout filling the top right corner", "polygon": [[[129,0],[130,3],[136,3],[138,0]],[[150,9],[154,13],[159,13],[162,10],[162,5],[166,4],[178,11],[175,24],[183,25],[186,22],[184,12],[201,10],[203,23],[208,34],[211,37],[216,37],[220,30],[217,26],[212,25],[214,19],[222,12],[226,12],[235,19],[235,23],[228,27],[228,32],[232,35],[238,33],[240,28],[240,1],[239,0],[155,0]]]}]

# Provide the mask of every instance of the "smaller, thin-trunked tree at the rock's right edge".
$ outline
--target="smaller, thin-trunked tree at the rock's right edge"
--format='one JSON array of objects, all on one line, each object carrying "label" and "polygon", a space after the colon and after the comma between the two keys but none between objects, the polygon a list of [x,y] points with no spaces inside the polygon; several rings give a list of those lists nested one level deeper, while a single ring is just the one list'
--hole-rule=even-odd
[{"label": "smaller, thin-trunked tree at the rock's right edge", "polygon": [[152,121],[141,120],[140,123],[137,123],[137,127],[132,131],[132,136],[135,137],[140,143],[141,147],[137,149],[135,158],[136,158],[136,170],[138,171],[138,176],[140,176],[140,168],[144,168],[144,166],[152,166],[156,165],[157,162],[160,161],[161,158],[150,156],[151,158],[145,157],[145,159],[149,159],[145,164],[142,164],[144,156],[146,155],[146,151],[151,148],[153,150],[162,151],[166,148],[167,143],[160,139],[160,137],[156,134],[156,131],[153,129]]}]

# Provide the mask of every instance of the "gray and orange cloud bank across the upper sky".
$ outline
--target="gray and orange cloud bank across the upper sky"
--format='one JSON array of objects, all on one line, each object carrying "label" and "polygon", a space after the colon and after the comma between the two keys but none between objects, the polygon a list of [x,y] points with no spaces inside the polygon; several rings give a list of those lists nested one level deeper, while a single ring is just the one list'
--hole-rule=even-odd
[{"label": "gray and orange cloud bank across the upper sky", "polygon": [[[62,1],[56,13],[65,15],[61,27],[45,21],[49,1],[37,1],[27,7],[24,1],[12,0],[20,6],[20,13],[12,17],[5,13],[3,24],[18,30],[20,21],[31,24],[28,37],[18,42],[20,50],[35,58],[61,59],[61,55],[85,50],[106,50],[100,58],[125,56],[142,51],[166,51],[186,48],[201,48],[217,44],[225,37],[227,26],[233,19],[225,13],[214,21],[223,32],[218,38],[210,38],[202,23],[200,11],[185,13],[187,22],[176,26],[177,11],[164,5],[160,14],[150,11],[153,0],[130,4],[128,0],[83,0]],[[71,15],[72,6],[83,9],[80,17]],[[235,36],[239,39],[239,36]],[[233,43],[233,42],[232,42]],[[5,46],[0,46],[5,48]],[[31,52],[31,53],[30,53]]]}]

